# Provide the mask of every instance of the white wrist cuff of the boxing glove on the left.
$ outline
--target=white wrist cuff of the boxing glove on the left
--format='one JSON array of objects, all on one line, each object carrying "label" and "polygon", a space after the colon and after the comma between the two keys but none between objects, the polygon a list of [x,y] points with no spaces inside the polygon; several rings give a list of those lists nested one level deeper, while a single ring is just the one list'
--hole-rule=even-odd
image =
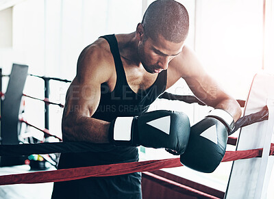
[{"label": "white wrist cuff of the boxing glove on the left", "polygon": [[134,117],[119,117],[114,123],[113,140],[130,141],[132,140],[132,120]]}]

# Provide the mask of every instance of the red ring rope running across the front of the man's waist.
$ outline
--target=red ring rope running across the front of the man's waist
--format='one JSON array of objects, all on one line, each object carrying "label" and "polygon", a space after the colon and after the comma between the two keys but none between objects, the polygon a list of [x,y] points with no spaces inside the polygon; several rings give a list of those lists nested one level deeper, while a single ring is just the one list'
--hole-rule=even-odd
[{"label": "red ring rope running across the front of the man's waist", "polygon": [[[274,155],[274,144],[271,144],[270,155]],[[262,148],[251,150],[227,151],[222,162],[236,161],[261,157]],[[132,172],[145,172],[160,170],[162,168],[175,168],[182,166],[179,158],[140,161],[131,163],[116,163],[111,165],[97,165],[82,168],[70,168],[45,172],[32,172],[27,174],[10,174],[0,176],[0,185],[14,185],[21,183],[49,183],[73,181],[91,176],[116,176]]]}]

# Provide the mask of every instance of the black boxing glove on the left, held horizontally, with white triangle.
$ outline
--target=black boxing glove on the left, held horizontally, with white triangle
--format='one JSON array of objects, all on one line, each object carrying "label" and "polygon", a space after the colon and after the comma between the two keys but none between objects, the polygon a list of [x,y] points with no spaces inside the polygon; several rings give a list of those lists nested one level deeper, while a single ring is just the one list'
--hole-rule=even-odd
[{"label": "black boxing glove on the left, held horizontally, with white triangle", "polygon": [[151,111],[135,117],[118,117],[110,124],[110,143],[116,146],[169,148],[182,154],[188,144],[188,116],[176,111]]}]

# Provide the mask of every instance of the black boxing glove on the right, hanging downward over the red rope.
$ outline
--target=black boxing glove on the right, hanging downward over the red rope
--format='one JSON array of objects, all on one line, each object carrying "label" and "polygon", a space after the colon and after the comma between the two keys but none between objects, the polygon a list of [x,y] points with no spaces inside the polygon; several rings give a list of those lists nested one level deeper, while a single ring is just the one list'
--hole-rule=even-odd
[{"label": "black boxing glove on the right, hanging downward over the red rope", "polygon": [[225,155],[228,132],[233,129],[232,116],[222,109],[213,109],[191,127],[188,146],[180,156],[181,163],[199,172],[213,172]]}]

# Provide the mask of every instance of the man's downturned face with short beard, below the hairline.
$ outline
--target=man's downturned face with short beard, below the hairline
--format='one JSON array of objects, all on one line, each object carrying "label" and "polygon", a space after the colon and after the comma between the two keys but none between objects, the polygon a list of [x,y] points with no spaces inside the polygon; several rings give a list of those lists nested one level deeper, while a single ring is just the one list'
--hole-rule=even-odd
[{"label": "man's downturned face with short beard, below the hairline", "polygon": [[182,52],[184,41],[180,43],[170,42],[162,35],[155,39],[146,38],[138,44],[138,56],[142,66],[150,73],[159,73],[166,70],[169,62]]}]

